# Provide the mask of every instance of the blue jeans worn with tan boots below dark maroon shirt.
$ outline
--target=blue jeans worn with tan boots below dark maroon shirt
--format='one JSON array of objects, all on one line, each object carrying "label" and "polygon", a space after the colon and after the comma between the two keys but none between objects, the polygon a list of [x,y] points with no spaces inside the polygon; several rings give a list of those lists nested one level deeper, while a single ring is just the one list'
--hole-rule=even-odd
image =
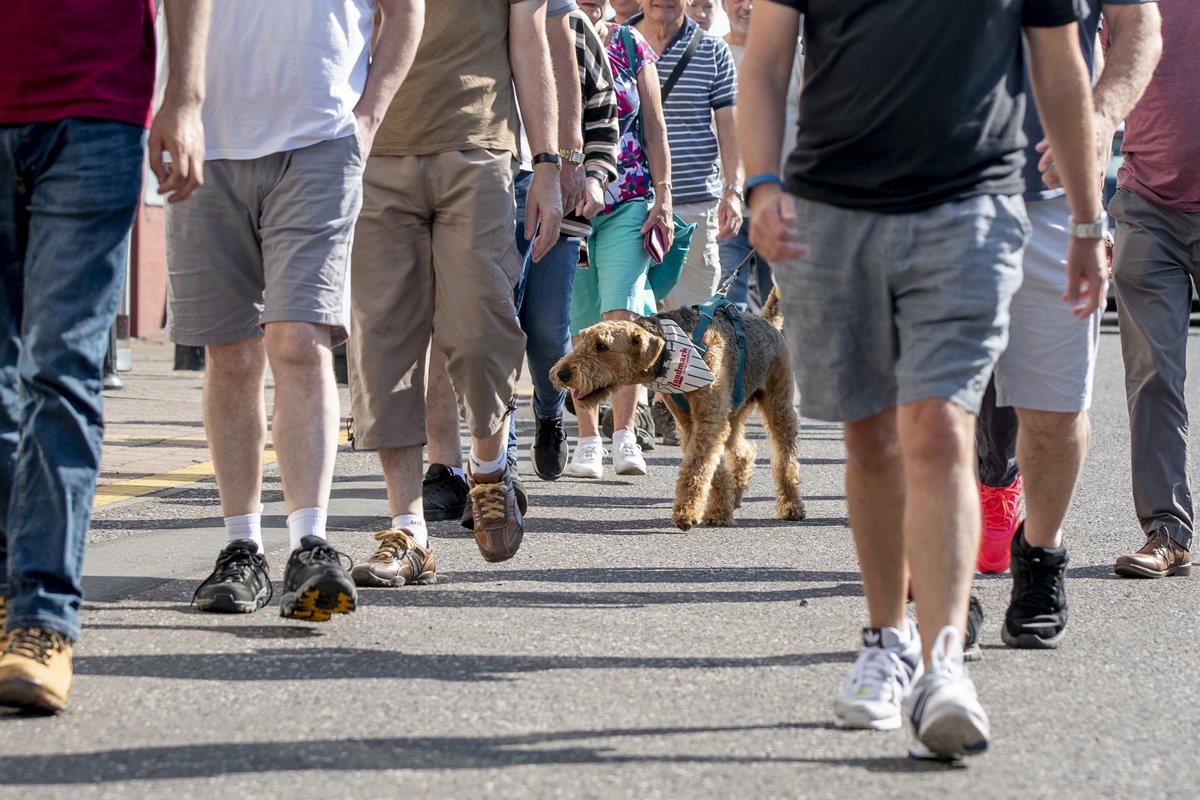
[{"label": "blue jeans worn with tan boots below dark maroon shirt", "polygon": [[106,120],[0,126],[0,595],[10,630],[79,637],[103,361],[144,144],[143,128]]}]

